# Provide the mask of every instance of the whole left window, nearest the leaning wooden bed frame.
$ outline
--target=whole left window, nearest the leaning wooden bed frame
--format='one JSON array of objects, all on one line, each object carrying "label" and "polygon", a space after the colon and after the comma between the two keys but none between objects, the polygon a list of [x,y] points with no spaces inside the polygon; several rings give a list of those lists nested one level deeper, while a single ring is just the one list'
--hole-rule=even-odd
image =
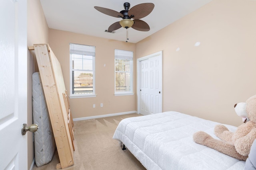
[{"label": "whole left window, nearest the leaning wooden bed frame", "polygon": [[70,98],[95,97],[95,47],[70,43]]}]

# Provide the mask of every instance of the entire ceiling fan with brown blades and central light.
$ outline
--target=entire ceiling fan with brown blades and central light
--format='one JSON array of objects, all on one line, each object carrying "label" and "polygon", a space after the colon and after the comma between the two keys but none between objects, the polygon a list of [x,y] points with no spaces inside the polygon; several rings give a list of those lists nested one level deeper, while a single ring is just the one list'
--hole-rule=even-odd
[{"label": "entire ceiling fan with brown blades and central light", "polygon": [[[148,16],[148,14],[150,14],[154,9],[154,6],[155,5],[153,3],[143,3],[138,4],[129,10],[130,3],[125,2],[124,10],[120,12],[110,10],[108,8],[102,8],[99,6],[94,6],[94,8],[99,12],[102,12],[103,14],[116,18],[122,18],[121,21],[117,21],[110,25],[108,27],[108,31],[115,31],[116,29],[119,29],[121,27],[126,28],[126,30],[132,27],[133,29],[136,29],[138,31],[149,31],[149,25],[145,21],[140,20],[140,18]],[[128,39],[128,32],[126,34],[126,39]]]}]

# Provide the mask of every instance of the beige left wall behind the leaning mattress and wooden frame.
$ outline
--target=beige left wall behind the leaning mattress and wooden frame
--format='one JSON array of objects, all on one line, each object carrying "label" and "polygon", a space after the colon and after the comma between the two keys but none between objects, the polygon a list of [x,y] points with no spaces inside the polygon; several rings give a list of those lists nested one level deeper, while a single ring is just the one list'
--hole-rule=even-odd
[{"label": "beige left wall behind the leaning mattress and wooden frame", "polygon": [[[46,23],[40,0],[28,0],[28,46],[36,43],[48,43],[48,25]],[[32,74],[38,71],[34,51],[28,51],[28,121],[32,119]],[[28,168],[34,159],[34,143],[32,133],[27,133],[28,137]]]}]

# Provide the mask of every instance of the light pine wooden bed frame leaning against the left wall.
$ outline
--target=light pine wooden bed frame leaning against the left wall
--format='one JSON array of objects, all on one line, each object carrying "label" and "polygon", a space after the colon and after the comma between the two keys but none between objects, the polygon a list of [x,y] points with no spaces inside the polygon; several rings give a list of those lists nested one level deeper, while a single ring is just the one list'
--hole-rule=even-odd
[{"label": "light pine wooden bed frame leaning against the left wall", "polygon": [[48,44],[34,44],[60,163],[56,169],[74,165],[74,124],[60,63]]}]

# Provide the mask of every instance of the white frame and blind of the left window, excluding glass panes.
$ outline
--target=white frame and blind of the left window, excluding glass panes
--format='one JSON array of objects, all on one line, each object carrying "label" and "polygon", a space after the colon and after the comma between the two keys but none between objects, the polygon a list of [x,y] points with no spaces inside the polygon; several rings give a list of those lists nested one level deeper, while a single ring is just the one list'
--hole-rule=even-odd
[{"label": "white frame and blind of the left window, excluding glass panes", "polygon": [[[72,48],[73,45],[73,49]],[[77,47],[76,49],[74,49]],[[72,68],[72,54],[79,54],[79,55],[88,55],[92,56],[92,71],[93,72],[93,87],[92,87],[92,94],[72,94],[72,86],[73,86],[73,78],[72,78],[72,71],[82,71],[78,69]],[[75,44],[70,43],[70,98],[90,98],[96,97],[95,93],[95,46],[90,45],[82,45],[82,44]]]}]

